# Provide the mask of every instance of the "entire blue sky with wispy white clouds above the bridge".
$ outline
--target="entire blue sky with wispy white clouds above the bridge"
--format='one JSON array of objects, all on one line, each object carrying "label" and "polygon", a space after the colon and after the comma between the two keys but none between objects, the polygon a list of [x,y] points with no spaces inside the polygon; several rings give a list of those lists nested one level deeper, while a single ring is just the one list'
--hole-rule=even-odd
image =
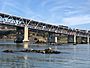
[{"label": "entire blue sky with wispy white clouds above the bridge", "polygon": [[90,23],[90,0],[0,0],[0,12],[53,25]]}]

